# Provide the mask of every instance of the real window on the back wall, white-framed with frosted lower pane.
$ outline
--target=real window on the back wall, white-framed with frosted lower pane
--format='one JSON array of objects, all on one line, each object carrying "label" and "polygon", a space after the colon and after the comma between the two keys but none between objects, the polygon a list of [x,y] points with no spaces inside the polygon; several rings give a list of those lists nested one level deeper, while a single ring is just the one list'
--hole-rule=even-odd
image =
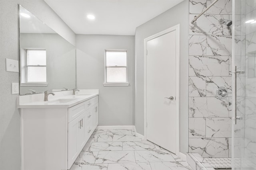
[{"label": "real window on the back wall, white-framed with frosted lower pane", "polygon": [[104,86],[128,86],[127,51],[106,50]]}]

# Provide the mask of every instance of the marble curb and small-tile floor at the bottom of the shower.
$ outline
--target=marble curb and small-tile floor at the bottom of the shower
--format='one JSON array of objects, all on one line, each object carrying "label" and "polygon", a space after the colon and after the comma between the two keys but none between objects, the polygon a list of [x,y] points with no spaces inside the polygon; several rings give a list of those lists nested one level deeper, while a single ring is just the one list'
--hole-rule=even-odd
[{"label": "marble curb and small-tile floor at the bottom of the shower", "polygon": [[202,158],[198,153],[187,153],[193,170],[231,170],[231,158]]}]

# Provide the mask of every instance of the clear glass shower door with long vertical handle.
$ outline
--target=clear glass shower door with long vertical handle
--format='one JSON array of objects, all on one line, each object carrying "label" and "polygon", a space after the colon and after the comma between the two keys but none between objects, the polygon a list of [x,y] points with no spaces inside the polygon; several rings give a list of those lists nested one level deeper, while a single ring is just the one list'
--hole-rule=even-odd
[{"label": "clear glass shower door with long vertical handle", "polygon": [[256,0],[232,2],[232,169],[256,170]]}]

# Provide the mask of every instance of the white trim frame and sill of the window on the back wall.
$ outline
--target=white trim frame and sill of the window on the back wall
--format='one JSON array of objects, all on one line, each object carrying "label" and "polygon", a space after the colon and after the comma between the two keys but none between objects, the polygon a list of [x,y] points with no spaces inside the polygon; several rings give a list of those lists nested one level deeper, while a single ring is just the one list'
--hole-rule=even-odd
[{"label": "white trim frame and sill of the window on the back wall", "polygon": [[[126,82],[106,82],[107,80],[107,66],[106,66],[106,52],[107,51],[125,51],[126,52]],[[127,54],[127,50],[122,50],[122,49],[105,49],[105,63],[104,63],[104,67],[105,67],[105,82],[103,83],[103,86],[129,86],[128,83],[128,54]],[[122,67],[122,66],[117,66],[117,67]]]}]

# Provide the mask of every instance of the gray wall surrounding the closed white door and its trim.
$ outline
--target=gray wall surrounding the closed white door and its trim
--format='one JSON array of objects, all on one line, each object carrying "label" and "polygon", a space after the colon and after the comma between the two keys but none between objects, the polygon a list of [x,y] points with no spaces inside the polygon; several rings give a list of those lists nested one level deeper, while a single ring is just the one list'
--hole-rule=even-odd
[{"label": "gray wall surrounding the closed white door and its trim", "polygon": [[135,33],[135,126],[144,134],[144,39],[180,24],[180,152],[188,151],[188,0],[140,25]]}]

